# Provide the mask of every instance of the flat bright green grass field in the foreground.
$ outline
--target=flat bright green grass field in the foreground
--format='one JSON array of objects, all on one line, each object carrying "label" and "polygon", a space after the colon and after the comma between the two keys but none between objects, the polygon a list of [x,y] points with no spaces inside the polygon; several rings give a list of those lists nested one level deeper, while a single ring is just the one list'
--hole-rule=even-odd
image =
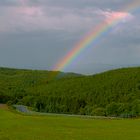
[{"label": "flat bright green grass field in the foreground", "polygon": [[140,119],[25,116],[0,106],[0,140],[140,140]]}]

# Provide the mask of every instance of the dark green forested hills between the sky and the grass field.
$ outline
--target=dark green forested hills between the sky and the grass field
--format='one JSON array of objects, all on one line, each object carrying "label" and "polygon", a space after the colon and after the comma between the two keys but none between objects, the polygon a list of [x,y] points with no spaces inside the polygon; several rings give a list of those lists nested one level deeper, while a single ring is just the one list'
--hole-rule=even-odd
[{"label": "dark green forested hills between the sky and the grass field", "polygon": [[42,112],[140,116],[140,67],[93,76],[0,68],[0,102]]}]

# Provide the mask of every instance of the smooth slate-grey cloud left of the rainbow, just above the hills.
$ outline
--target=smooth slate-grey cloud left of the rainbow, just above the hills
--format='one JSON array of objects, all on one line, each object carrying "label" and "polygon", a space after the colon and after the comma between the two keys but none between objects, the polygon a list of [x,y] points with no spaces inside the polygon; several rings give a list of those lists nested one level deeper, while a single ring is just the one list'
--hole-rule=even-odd
[{"label": "smooth slate-grey cloud left of the rainbow, just above the hills", "polygon": [[[69,35],[68,35],[69,34]],[[0,34],[1,66],[52,69],[76,37],[62,31]]]}]

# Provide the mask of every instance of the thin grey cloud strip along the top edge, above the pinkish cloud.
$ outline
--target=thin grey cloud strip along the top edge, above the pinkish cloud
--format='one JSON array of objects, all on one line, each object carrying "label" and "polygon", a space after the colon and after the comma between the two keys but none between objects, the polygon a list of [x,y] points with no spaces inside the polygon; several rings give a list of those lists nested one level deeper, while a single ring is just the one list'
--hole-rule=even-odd
[{"label": "thin grey cloud strip along the top edge, above the pinkish cloud", "polygon": [[0,5],[18,6],[21,5],[21,1],[24,1],[24,3],[29,6],[56,6],[66,8],[99,7],[112,10],[120,9],[132,2],[131,0],[1,0]]}]

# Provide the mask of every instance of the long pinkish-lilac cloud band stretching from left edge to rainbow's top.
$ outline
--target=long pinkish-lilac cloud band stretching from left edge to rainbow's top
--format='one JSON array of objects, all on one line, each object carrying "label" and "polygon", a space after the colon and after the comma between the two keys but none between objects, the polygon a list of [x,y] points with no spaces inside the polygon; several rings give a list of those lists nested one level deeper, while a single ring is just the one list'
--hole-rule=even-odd
[{"label": "long pinkish-lilac cloud band stretching from left edge to rainbow's top", "polygon": [[[95,8],[66,9],[62,7],[29,6],[21,0],[21,6],[4,7],[0,12],[0,31],[66,30],[79,32],[90,30],[106,18],[128,21],[132,15],[124,12],[102,11]],[[7,28],[8,26],[8,28]]]}]

